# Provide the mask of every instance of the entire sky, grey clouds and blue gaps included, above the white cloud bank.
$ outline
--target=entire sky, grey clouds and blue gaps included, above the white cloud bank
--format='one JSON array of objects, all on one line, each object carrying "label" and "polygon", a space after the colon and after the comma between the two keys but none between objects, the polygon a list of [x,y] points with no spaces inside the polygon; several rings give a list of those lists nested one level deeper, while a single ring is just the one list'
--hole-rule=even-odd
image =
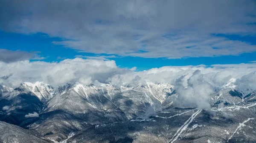
[{"label": "entire sky, grey clouds and blue gaps included, above the white cloud bank", "polygon": [[0,3],[2,57],[14,52],[17,60],[110,59],[119,67],[138,71],[256,61],[254,0],[118,4],[90,0]]}]

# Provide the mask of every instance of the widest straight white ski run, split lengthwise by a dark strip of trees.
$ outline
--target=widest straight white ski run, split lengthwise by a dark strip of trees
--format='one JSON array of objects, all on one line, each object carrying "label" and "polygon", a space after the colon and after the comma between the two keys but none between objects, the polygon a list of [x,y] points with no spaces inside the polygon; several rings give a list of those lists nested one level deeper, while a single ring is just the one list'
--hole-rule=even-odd
[{"label": "widest straight white ski run, split lengthwise by a dark strip of trees", "polygon": [[171,140],[169,142],[173,143],[177,138],[180,136],[180,134],[186,130],[186,128],[189,126],[189,124],[194,120],[194,118],[201,112],[202,110],[198,110],[195,112],[189,119],[180,127],[180,129],[177,130],[175,135],[172,137],[172,142]]}]

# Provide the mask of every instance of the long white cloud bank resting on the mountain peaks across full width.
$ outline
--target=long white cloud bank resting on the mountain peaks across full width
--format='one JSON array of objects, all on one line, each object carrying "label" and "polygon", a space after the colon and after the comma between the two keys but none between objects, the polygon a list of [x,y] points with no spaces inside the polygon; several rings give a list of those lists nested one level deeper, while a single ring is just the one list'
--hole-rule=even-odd
[{"label": "long white cloud bank resting on the mountain peaks across full width", "polygon": [[[136,67],[120,68],[115,61],[96,59],[65,59],[61,62],[0,62],[0,84],[18,87],[23,82],[43,81],[52,86],[79,82],[81,84],[111,83],[117,87],[147,83],[169,83],[179,94],[180,107],[208,108],[209,95],[222,87],[241,90],[245,95],[256,90],[256,64],[216,66],[160,67],[135,71]],[[232,86],[231,86],[232,85]]]}]

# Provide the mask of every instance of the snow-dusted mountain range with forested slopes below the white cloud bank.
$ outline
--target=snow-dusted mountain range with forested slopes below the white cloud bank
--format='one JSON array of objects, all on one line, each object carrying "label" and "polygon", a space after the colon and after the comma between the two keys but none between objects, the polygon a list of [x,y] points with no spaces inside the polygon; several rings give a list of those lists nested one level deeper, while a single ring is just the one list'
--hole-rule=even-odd
[{"label": "snow-dusted mountain range with forested slopes below the white cloud bank", "polygon": [[252,87],[224,85],[209,109],[179,108],[178,96],[167,83],[0,85],[0,143],[256,142]]}]

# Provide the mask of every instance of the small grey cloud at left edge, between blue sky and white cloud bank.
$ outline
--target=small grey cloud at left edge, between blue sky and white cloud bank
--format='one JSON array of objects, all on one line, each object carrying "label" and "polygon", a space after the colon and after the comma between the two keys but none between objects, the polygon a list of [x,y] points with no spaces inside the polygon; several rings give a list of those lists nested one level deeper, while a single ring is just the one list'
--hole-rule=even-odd
[{"label": "small grey cloud at left edge, between blue sky and white cloud bank", "polygon": [[0,61],[2,62],[17,62],[17,61],[23,61],[23,60],[29,60],[29,59],[45,59],[44,57],[40,57],[36,54],[36,52],[26,52],[26,51],[20,51],[20,50],[6,50],[6,49],[0,49]]}]

